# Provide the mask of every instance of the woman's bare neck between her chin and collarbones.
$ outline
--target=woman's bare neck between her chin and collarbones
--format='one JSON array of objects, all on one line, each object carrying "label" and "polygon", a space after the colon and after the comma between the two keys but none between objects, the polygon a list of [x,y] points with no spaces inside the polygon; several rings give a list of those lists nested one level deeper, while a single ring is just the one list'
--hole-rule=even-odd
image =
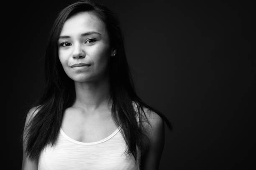
[{"label": "woman's bare neck between her chin and collarbones", "polygon": [[91,82],[74,82],[76,101],[73,107],[83,108],[86,112],[94,112],[99,107],[109,107],[109,78]]}]

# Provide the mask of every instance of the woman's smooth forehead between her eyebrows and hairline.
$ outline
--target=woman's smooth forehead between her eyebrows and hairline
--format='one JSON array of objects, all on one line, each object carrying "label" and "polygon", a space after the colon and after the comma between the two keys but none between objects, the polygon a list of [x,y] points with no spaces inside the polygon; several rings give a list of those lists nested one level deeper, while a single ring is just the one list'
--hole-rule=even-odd
[{"label": "woman's smooth forehead between her eyebrows and hairline", "polygon": [[107,33],[105,24],[95,14],[81,12],[66,20],[60,36],[78,36],[84,32],[98,32],[102,36]]}]

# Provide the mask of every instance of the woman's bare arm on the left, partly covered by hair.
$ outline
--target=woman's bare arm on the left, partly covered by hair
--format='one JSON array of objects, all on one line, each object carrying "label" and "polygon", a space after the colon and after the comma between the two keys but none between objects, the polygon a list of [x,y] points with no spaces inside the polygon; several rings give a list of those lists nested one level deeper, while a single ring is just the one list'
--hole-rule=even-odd
[{"label": "woman's bare arm on the left, partly covered by hair", "polygon": [[[32,108],[28,114],[27,114],[27,117],[26,117],[26,122],[25,122],[25,127],[26,125],[28,125],[28,122],[31,120],[32,118],[32,114],[34,112],[35,108]],[[36,113],[36,112],[35,112]],[[38,169],[38,159],[37,160],[29,160],[28,157],[27,157],[27,154],[25,152],[25,134],[27,132],[25,131],[25,128],[24,128],[24,134],[23,134],[23,160],[22,160],[22,168],[21,170],[37,170]]]}]

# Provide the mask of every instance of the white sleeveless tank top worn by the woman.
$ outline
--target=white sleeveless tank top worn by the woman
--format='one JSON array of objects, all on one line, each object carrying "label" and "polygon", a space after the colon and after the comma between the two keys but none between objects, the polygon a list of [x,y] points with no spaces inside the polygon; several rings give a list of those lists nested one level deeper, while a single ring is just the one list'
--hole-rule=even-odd
[{"label": "white sleeveless tank top worn by the woman", "polygon": [[139,170],[133,155],[125,155],[126,146],[120,127],[92,143],[74,140],[60,129],[56,145],[41,151],[38,170]]}]

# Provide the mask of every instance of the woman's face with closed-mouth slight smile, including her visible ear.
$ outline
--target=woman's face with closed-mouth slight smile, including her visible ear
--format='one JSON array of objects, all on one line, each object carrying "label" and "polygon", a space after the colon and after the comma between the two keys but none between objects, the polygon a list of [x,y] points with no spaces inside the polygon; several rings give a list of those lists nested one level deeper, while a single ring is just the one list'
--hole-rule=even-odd
[{"label": "woman's face with closed-mouth slight smile, including her visible ear", "polygon": [[78,13],[66,20],[58,47],[64,71],[77,82],[99,80],[106,76],[109,57],[114,55],[105,24],[88,12]]}]

